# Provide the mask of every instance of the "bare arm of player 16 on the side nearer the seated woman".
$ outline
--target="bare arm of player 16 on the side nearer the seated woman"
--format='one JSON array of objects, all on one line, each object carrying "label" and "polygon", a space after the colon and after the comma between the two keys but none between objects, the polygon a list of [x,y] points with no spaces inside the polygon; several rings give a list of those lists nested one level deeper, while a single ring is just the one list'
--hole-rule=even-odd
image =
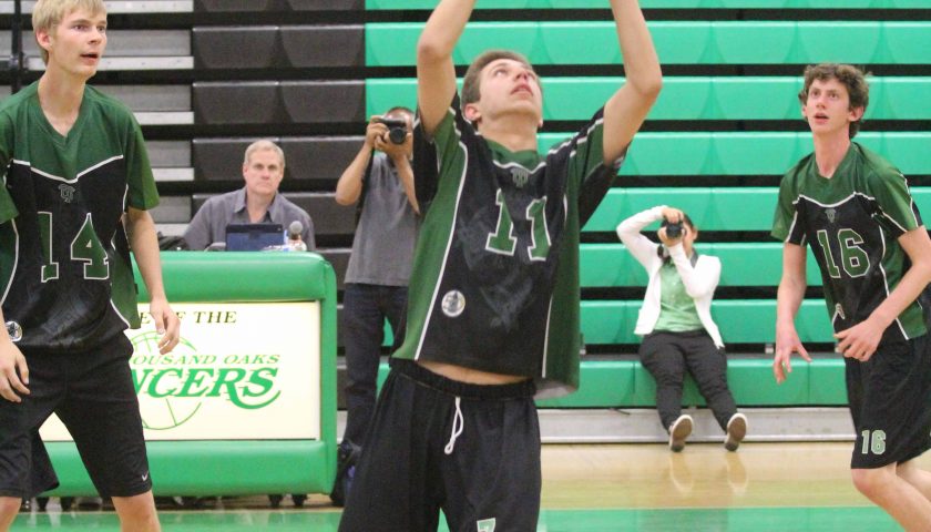
[{"label": "bare arm of player 16 on the side nearer the seated woman", "polygon": [[791,243],[782,246],[782,278],[779,280],[779,290],[776,296],[776,355],[773,360],[773,375],[779,383],[786,380],[787,374],[792,372],[791,355],[794,352],[811,361],[795,328],[795,317],[805,298],[807,286],[805,278],[807,258],[805,247]]}]

